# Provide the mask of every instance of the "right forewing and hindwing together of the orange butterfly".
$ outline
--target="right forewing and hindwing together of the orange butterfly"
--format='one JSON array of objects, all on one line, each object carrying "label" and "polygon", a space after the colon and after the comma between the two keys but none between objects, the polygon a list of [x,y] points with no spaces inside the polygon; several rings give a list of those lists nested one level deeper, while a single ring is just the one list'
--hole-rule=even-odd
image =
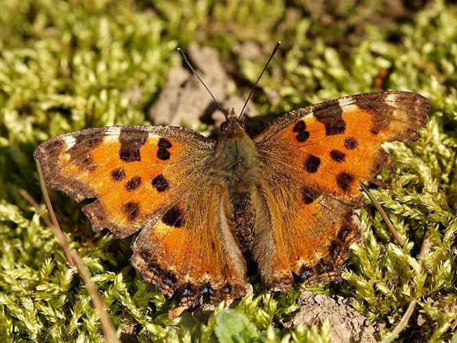
[{"label": "right forewing and hindwing together of the orange butterfly", "polygon": [[416,141],[428,109],[415,93],[353,95],[288,113],[254,138],[265,170],[254,198],[269,218],[258,217],[254,255],[269,287],[287,289],[293,274],[338,276],[360,237],[351,219],[359,182],[391,168],[381,144]]}]

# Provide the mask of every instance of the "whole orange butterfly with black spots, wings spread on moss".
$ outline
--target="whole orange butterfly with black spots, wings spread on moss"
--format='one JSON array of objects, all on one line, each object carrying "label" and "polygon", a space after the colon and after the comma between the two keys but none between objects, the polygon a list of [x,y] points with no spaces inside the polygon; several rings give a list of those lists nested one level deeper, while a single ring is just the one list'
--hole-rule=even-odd
[{"label": "whole orange butterfly with black spots, wings spread on moss", "polygon": [[134,267],[195,307],[244,296],[247,255],[270,290],[338,279],[360,239],[359,182],[391,168],[383,142],[419,139],[428,109],[415,93],[367,93],[293,110],[254,138],[232,110],[216,141],[171,126],[90,128],[34,157],[47,186],[96,199],[82,208],[93,230],[140,231]]}]

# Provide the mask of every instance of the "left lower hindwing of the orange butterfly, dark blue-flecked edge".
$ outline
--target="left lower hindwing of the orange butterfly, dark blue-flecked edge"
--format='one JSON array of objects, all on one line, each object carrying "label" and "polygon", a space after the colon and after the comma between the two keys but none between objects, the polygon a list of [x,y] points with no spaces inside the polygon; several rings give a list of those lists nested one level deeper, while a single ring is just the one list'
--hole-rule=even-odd
[{"label": "left lower hindwing of the orange butterfly, dark blue-flecked edge", "polygon": [[166,295],[178,289],[188,307],[243,296],[245,262],[225,217],[226,197],[227,191],[203,187],[143,230],[132,247],[143,279]]}]

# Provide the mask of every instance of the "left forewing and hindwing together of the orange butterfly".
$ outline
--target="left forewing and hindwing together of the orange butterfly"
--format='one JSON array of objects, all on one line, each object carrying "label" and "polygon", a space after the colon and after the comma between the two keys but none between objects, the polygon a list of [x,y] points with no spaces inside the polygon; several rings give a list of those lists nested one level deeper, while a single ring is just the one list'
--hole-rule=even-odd
[{"label": "left forewing and hindwing together of the orange butterfly", "polygon": [[[95,199],[82,210],[96,232],[108,228],[123,238],[143,230],[132,263],[164,294],[230,283],[234,297],[242,295],[244,261],[221,228],[229,223],[202,196],[213,150],[214,141],[185,128],[114,126],[60,135],[42,143],[34,157],[47,186],[78,202]],[[212,200],[222,204],[225,198],[214,193]],[[194,268],[190,254],[208,259]]]}]

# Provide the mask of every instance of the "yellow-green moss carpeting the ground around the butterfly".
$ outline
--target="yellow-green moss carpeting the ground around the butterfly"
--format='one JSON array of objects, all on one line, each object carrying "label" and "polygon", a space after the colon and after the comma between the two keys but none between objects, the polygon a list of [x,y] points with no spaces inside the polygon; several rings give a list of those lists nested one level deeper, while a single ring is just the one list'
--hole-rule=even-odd
[{"label": "yellow-green moss carpeting the ground around the butterfly", "polygon": [[[254,104],[283,113],[341,95],[404,89],[428,97],[428,127],[415,144],[386,145],[395,171],[382,172],[386,190],[373,191],[400,235],[399,248],[368,204],[360,212],[365,247],[354,248],[345,281],[316,286],[330,295],[354,296],[370,320],[395,327],[412,298],[416,315],[402,338],[451,340],[457,326],[457,8],[430,1],[400,20],[388,1],[356,7],[311,6],[308,1],[51,1],[7,0],[0,12],[0,339],[98,341],[101,328],[82,279],[66,263],[51,231],[18,195],[41,200],[32,152],[38,143],[85,127],[147,123],[175,47],[197,41],[221,51],[239,68],[230,91],[249,86],[268,52],[244,58],[245,41],[269,51],[283,42]],[[14,15],[12,15],[14,14]],[[380,21],[379,19],[382,18]],[[380,69],[389,75],[380,88]],[[156,287],[129,265],[132,239],[94,235],[79,206],[51,193],[60,223],[84,257],[114,327],[123,339],[202,341],[232,337],[277,342],[327,342],[330,324],[294,332],[282,322],[297,309],[301,286],[288,294],[254,296],[234,309],[222,306],[208,321],[166,311]],[[424,237],[430,249],[419,254]],[[420,318],[417,317],[419,315]],[[417,321],[421,319],[420,325]],[[243,322],[245,331],[227,324]],[[224,331],[225,329],[229,331]],[[230,331],[232,330],[232,331]],[[227,334],[228,332],[228,334]],[[454,338],[455,340],[455,338]]]}]

